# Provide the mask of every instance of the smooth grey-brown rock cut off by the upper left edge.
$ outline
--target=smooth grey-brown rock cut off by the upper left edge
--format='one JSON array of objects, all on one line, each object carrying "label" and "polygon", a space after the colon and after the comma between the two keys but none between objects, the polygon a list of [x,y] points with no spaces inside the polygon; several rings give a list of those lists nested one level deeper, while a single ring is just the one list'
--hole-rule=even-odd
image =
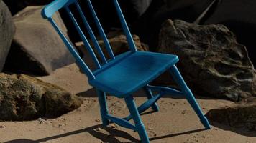
[{"label": "smooth grey-brown rock cut off by the upper left edge", "polygon": [[9,9],[0,0],[0,71],[3,69],[6,57],[15,33],[15,26]]}]

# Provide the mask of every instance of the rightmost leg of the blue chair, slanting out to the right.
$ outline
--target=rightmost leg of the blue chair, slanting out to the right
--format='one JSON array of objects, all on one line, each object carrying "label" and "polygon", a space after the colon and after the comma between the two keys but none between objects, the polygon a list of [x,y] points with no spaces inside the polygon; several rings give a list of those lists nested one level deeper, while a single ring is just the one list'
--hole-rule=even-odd
[{"label": "rightmost leg of the blue chair, slanting out to the right", "polygon": [[195,97],[193,96],[191,90],[186,85],[186,82],[183,80],[183,77],[180,75],[180,72],[178,71],[178,68],[175,65],[170,67],[170,74],[172,75],[175,82],[178,83],[182,92],[186,95],[186,99],[188,100],[189,104],[191,104],[191,107],[193,107],[193,110],[198,115],[199,119],[201,120],[201,123],[204,124],[204,127],[206,129],[211,129],[208,119],[204,116],[204,113],[202,112],[201,108],[196,102]]}]

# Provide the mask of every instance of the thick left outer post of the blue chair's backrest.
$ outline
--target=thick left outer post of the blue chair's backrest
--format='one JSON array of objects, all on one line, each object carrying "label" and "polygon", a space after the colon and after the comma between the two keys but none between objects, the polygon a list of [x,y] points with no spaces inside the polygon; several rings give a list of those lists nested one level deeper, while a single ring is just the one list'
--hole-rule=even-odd
[{"label": "thick left outer post of the blue chair's backrest", "polygon": [[76,62],[78,62],[78,65],[81,67],[81,69],[86,73],[86,75],[88,76],[88,79],[95,79],[93,73],[91,72],[91,70],[88,68],[88,66],[84,63],[83,59],[81,59],[81,57],[79,56],[78,52],[76,51],[76,49],[74,48],[74,46],[72,44],[70,44],[70,41],[68,41],[68,39],[65,37],[65,35],[63,34],[63,32],[60,30],[60,28],[58,27],[58,25],[55,23],[55,21],[50,17],[48,18],[48,20],[50,21],[50,23],[52,24],[52,26],[54,27],[54,29],[58,32],[58,34],[60,35],[60,38],[63,39],[63,42],[65,43],[65,45],[68,47],[68,50],[70,51],[70,53],[74,56],[74,58],[76,59]]}]

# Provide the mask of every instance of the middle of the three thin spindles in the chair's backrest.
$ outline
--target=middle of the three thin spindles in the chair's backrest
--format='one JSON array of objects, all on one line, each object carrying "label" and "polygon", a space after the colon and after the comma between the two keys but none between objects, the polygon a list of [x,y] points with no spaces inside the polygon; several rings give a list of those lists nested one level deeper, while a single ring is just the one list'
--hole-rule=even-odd
[{"label": "middle of the three thin spindles in the chair's backrest", "polygon": [[87,19],[86,19],[86,16],[84,16],[83,11],[82,11],[82,9],[81,9],[81,7],[79,6],[79,4],[78,4],[77,1],[75,2],[75,4],[76,4],[76,9],[78,9],[78,12],[79,12],[80,16],[81,16],[82,19],[83,19],[83,24],[84,24],[84,26],[86,26],[86,29],[87,29],[87,31],[88,31],[90,37],[91,37],[91,40],[92,40],[92,42],[93,42],[93,46],[94,46],[94,47],[96,48],[96,50],[98,51],[98,54],[99,54],[99,56],[101,57],[102,62],[103,62],[104,64],[106,64],[106,63],[107,63],[106,58],[105,58],[105,56],[104,56],[104,54],[103,54],[103,52],[102,52],[102,50],[101,50],[101,47],[99,46],[99,43],[98,43],[98,41],[97,41],[97,39],[96,39],[96,36],[93,34],[93,31],[91,30],[91,26],[90,26],[90,24],[88,23],[88,21],[87,21]]}]

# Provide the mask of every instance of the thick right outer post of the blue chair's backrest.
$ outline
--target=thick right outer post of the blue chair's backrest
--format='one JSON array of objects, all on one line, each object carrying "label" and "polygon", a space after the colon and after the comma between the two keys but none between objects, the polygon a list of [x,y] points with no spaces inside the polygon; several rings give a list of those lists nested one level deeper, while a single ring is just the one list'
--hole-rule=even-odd
[{"label": "thick right outer post of the blue chair's backrest", "polygon": [[129,49],[131,51],[137,51],[137,48],[136,48],[136,46],[134,44],[134,41],[132,39],[132,34],[129,31],[129,28],[127,26],[127,22],[124,19],[124,14],[122,13],[122,10],[121,10],[121,8],[119,6],[119,3],[118,3],[117,0],[113,0],[113,1],[114,1],[114,6],[116,7],[117,15],[119,16],[119,20],[121,21],[121,24],[122,24],[122,28],[124,30],[124,34],[127,37],[127,41],[128,41],[128,44],[129,44]]}]

